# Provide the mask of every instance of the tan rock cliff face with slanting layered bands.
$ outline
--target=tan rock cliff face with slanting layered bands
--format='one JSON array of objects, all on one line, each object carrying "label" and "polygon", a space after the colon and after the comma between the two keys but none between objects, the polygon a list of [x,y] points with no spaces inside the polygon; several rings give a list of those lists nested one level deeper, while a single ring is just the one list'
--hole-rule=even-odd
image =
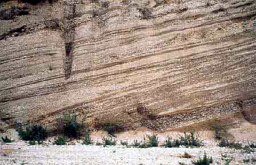
[{"label": "tan rock cliff face with slanting layered bands", "polygon": [[256,96],[255,18],[256,1],[29,6],[28,15],[0,21],[0,117],[50,123],[76,110],[89,122],[138,127],[152,122],[139,122],[138,104],[162,125],[187,110],[197,120],[213,107],[237,112],[237,100]]}]

